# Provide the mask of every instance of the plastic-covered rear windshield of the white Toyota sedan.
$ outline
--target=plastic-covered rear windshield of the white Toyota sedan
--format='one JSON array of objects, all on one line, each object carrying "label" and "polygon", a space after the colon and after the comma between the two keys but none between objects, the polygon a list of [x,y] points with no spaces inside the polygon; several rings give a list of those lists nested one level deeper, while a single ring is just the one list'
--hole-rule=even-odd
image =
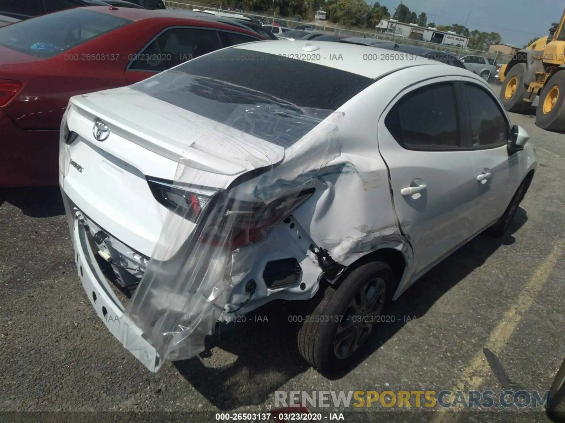
[{"label": "plastic-covered rear windshield of the white Toyota sedan", "polygon": [[373,82],[305,60],[232,48],[130,87],[289,147]]}]

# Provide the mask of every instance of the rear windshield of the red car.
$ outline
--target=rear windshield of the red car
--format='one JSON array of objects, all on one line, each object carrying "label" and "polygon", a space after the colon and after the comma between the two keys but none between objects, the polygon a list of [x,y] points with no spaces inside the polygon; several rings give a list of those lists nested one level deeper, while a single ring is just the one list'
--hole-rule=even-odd
[{"label": "rear windshield of the red car", "polygon": [[0,28],[0,45],[47,59],[130,22],[123,17],[73,8]]}]

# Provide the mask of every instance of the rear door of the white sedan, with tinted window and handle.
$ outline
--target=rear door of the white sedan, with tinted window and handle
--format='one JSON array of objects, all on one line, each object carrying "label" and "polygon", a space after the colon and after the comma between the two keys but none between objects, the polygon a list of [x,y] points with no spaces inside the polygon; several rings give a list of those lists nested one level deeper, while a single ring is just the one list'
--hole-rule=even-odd
[{"label": "rear door of the white sedan, with tinted window and handle", "polygon": [[379,122],[399,224],[414,249],[415,274],[472,236],[476,192],[471,153],[462,146],[452,78],[411,86]]}]

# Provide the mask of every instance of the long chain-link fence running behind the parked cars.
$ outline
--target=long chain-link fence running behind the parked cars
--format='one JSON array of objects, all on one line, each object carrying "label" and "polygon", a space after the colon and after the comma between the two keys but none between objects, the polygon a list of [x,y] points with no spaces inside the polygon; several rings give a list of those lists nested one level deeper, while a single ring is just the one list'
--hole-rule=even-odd
[{"label": "long chain-link fence running behind the parked cars", "polygon": [[361,37],[361,38],[388,39],[398,44],[409,44],[414,46],[427,47],[428,49],[449,52],[451,54],[454,54],[458,58],[462,58],[463,56],[469,56],[469,55],[483,56],[485,58],[493,59],[494,63],[499,65],[499,68],[502,67],[502,65],[509,63],[510,59],[512,59],[512,55],[502,54],[499,52],[463,49],[462,47],[447,46],[447,45],[432,43],[420,39],[395,37],[391,34],[381,33],[377,29],[354,30],[354,29],[341,28],[338,25],[332,24],[329,21],[314,21],[314,22],[302,21],[299,20],[298,18],[289,19],[280,16],[260,14],[258,12],[247,12],[244,10],[238,10],[233,7],[228,7],[228,6],[222,7],[218,4],[212,5],[210,3],[195,2],[192,0],[164,0],[164,3],[167,6],[167,8],[170,9],[184,9],[184,10],[205,9],[205,10],[215,10],[215,11],[228,12],[228,13],[237,13],[237,14],[245,15],[247,17],[254,17],[255,19],[259,19],[262,21],[263,24],[272,23],[273,21],[277,21],[277,23],[279,24],[284,23],[288,28],[294,28],[300,24],[310,24],[314,26],[315,31],[323,32],[325,34],[345,35],[350,37]]}]

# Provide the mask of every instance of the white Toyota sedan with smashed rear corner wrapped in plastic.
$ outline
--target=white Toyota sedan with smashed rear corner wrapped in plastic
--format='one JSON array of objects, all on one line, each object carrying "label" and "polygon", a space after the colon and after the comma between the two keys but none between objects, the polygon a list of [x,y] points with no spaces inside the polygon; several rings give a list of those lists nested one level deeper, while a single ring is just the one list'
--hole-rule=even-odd
[{"label": "white Toyota sedan with smashed rear corner wrapped in plastic", "polygon": [[429,268],[502,235],[536,165],[480,77],[316,41],[75,96],[60,139],[80,280],[151,371],[274,299],[308,304],[308,362],[349,364]]}]

